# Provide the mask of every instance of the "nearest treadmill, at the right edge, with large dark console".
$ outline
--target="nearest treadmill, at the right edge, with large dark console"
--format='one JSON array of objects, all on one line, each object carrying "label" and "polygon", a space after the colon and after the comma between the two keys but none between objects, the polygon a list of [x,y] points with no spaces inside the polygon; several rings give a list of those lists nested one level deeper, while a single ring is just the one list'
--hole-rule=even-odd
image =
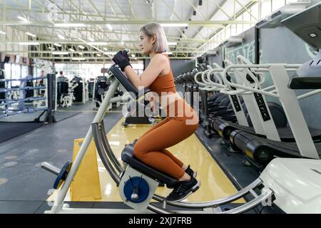
[{"label": "nearest treadmill, at the right edge, with large dark console", "polygon": [[272,79],[279,90],[282,106],[286,110],[287,120],[296,142],[267,140],[240,130],[233,133],[235,145],[241,148],[250,162],[260,170],[264,169],[274,157],[312,159],[320,159],[321,157],[321,143],[313,142],[297,96],[293,91],[295,89],[315,89],[310,93],[300,95],[304,98],[321,93],[321,3],[290,16],[283,20],[282,24],[315,48],[318,54],[314,59],[303,63],[296,71],[297,76],[291,79],[286,78],[285,80],[285,78],[277,77],[277,73],[282,71],[282,67],[272,66],[270,68]]}]

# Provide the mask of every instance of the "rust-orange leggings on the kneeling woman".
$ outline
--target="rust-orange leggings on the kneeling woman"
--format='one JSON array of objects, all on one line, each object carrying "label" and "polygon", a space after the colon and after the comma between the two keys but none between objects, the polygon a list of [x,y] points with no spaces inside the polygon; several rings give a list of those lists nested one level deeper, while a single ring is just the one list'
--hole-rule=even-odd
[{"label": "rust-orange leggings on the kneeling woman", "polygon": [[165,118],[144,133],[134,146],[134,155],[147,165],[168,173],[176,179],[185,174],[183,162],[166,148],[178,144],[195,133],[195,124],[186,124],[186,118]]}]

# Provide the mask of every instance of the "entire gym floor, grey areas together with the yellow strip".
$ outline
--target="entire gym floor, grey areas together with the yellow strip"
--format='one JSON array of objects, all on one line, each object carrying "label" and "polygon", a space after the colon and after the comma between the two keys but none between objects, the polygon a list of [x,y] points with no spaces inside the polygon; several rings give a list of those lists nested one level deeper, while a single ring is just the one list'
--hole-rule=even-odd
[{"label": "entire gym floor, grey areas together with the yellow strip", "polygon": [[[105,125],[111,147],[120,157],[123,145],[142,135],[150,125],[128,125],[124,128],[122,106],[106,113]],[[78,112],[77,115],[74,113]],[[0,213],[44,213],[50,209],[51,189],[56,178],[41,168],[41,162],[62,167],[72,160],[73,140],[84,138],[95,116],[89,103],[73,105],[60,113],[71,113],[54,125],[44,125],[29,133],[1,143],[0,147]],[[79,113],[80,112],[80,113]],[[193,148],[193,149],[191,149]],[[255,180],[259,173],[242,164],[243,155],[231,154],[219,138],[208,139],[200,127],[195,135],[171,147],[170,150],[198,171],[201,187],[186,202],[220,199],[235,193]],[[121,202],[118,189],[98,159],[101,199],[81,199],[73,207],[128,208]],[[82,177],[82,180],[85,177]],[[84,180],[86,182],[86,178]],[[170,190],[159,187],[157,193],[166,196]],[[48,200],[48,201],[47,201]],[[68,194],[66,201],[70,201]],[[225,209],[245,202],[240,199]],[[223,208],[224,209],[224,208]],[[255,211],[250,211],[255,213]]]}]

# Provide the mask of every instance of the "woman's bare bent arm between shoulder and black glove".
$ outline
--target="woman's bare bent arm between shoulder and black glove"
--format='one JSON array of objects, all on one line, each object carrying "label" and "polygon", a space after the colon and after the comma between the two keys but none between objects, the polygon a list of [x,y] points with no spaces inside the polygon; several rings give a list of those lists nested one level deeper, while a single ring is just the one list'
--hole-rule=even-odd
[{"label": "woman's bare bent arm between shoulder and black glove", "polygon": [[168,59],[161,54],[156,54],[140,76],[130,66],[126,66],[124,71],[129,81],[131,81],[136,88],[141,86],[146,88],[167,68],[166,64],[169,64]]}]

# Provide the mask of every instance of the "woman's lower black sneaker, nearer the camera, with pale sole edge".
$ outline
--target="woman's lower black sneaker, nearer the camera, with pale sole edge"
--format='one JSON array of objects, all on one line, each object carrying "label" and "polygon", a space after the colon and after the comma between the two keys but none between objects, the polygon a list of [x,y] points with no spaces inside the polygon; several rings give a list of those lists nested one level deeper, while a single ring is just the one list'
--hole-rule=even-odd
[{"label": "woman's lower black sneaker, nearer the camera, with pale sole edge", "polygon": [[179,184],[174,188],[173,192],[170,192],[170,195],[166,197],[166,201],[181,201],[191,195],[193,192],[196,192],[196,190],[198,190],[199,188],[200,182],[191,177],[190,180],[179,182]]}]

